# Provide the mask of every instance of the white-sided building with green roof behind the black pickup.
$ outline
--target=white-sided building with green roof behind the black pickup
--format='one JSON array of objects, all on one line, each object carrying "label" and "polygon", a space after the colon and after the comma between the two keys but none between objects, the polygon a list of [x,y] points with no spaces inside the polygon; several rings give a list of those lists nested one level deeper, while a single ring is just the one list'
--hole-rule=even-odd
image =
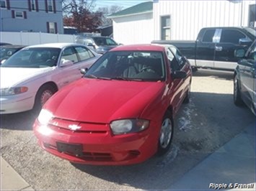
[{"label": "white-sided building with green roof behind the black pickup", "polygon": [[110,18],[115,40],[126,45],[154,39],[195,40],[203,27],[256,27],[255,1],[248,0],[154,0]]}]

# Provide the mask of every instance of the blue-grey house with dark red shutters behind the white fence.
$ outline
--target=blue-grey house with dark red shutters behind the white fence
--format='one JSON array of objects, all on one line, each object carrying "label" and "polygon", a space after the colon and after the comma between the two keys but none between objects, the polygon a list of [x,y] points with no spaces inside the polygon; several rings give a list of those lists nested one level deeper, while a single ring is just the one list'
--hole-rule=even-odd
[{"label": "blue-grey house with dark red shutters behind the white fence", "polygon": [[1,0],[0,31],[63,34],[61,0]]}]

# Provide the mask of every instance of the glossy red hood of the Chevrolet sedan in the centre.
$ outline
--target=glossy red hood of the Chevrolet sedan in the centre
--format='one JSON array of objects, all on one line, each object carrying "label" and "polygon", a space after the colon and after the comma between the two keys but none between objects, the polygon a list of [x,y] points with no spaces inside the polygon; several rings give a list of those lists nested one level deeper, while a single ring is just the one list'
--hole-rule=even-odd
[{"label": "glossy red hood of the Chevrolet sedan in the centre", "polygon": [[162,82],[82,78],[53,95],[44,108],[56,118],[108,124],[120,118],[140,117],[163,90]]}]

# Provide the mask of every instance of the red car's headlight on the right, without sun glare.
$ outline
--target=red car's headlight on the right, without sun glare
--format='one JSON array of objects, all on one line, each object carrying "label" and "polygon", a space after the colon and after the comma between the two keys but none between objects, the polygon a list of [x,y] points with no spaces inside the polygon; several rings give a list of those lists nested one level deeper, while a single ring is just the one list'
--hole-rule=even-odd
[{"label": "red car's headlight on the right, without sun glare", "polygon": [[149,127],[149,121],[144,119],[123,119],[110,124],[113,134],[128,134],[143,131]]}]

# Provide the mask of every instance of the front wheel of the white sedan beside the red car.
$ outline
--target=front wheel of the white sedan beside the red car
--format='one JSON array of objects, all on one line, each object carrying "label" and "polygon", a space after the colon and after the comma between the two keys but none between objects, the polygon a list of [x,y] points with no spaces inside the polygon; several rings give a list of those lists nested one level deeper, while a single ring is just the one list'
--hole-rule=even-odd
[{"label": "front wheel of the white sedan beside the red car", "polygon": [[[45,84],[38,91],[37,95],[35,95],[35,104],[33,110],[40,111],[43,107],[43,104],[48,101],[48,99],[56,93],[56,88],[53,85]],[[44,96],[44,97],[43,97]]]}]

